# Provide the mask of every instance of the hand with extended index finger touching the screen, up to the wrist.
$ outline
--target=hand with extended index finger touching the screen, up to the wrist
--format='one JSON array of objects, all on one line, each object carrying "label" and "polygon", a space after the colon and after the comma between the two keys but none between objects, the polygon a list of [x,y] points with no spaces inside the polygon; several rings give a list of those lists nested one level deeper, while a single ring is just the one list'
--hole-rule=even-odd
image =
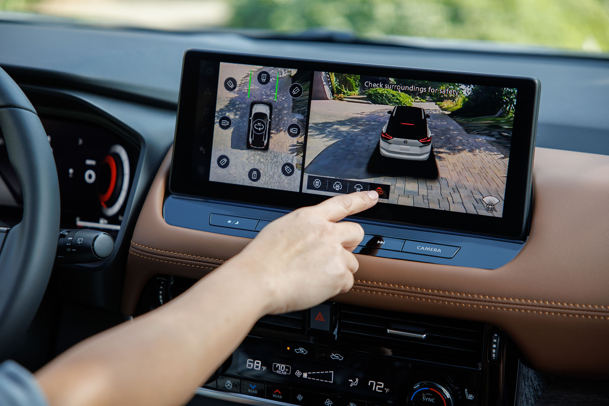
[{"label": "hand with extended index finger touching the screen, up to the wrist", "polygon": [[[341,222],[378,201],[375,191],[342,194],[268,224],[229,263],[258,288],[267,313],[302,310],[346,292],[359,263],[353,250],[364,238],[357,223]],[[228,264],[227,264],[228,265]]]}]

